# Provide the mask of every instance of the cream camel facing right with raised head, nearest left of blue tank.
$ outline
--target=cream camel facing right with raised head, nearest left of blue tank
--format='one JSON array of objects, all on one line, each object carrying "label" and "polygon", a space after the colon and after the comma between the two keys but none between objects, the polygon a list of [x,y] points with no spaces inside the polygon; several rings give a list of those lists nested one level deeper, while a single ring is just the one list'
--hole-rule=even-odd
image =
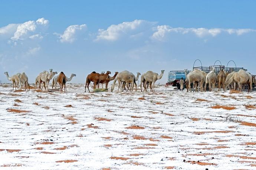
[{"label": "cream camel facing right with raised head, nearest left of blue tank", "polygon": [[[155,91],[155,82],[157,80],[161,79],[163,77],[163,74],[164,74],[164,70],[161,70],[160,75],[158,75],[157,73],[152,72],[152,71],[147,71],[144,73],[143,78],[145,79],[146,84],[147,84],[147,82],[150,83],[150,89],[152,89],[153,92]],[[142,76],[141,76],[141,79],[142,79]],[[151,82],[152,82],[152,86],[151,86]],[[142,83],[143,83],[143,80],[141,81],[141,85],[142,85]],[[141,87],[141,85],[140,85],[140,87]],[[145,86],[144,86],[144,89],[147,92],[147,89]]]}]

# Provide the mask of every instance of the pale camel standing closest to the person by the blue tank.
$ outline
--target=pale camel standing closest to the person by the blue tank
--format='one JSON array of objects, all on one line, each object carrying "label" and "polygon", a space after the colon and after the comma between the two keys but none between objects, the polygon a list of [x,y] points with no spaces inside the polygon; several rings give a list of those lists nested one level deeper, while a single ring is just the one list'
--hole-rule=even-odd
[{"label": "pale camel standing closest to the person by the blue tank", "polygon": [[[187,85],[186,86],[190,89],[190,92],[191,92],[191,88],[190,88],[191,82],[193,82],[193,88],[194,88],[196,81],[198,82],[198,86],[200,84],[201,92],[203,91],[203,83],[206,80],[206,75],[207,75],[206,72],[198,70],[198,69],[194,69],[193,71],[191,71],[190,73],[187,74],[187,77],[186,77]],[[188,88],[187,88],[187,92],[188,92]],[[196,85],[196,91],[197,91],[197,85]],[[198,90],[198,92],[199,92],[199,90]]]}]

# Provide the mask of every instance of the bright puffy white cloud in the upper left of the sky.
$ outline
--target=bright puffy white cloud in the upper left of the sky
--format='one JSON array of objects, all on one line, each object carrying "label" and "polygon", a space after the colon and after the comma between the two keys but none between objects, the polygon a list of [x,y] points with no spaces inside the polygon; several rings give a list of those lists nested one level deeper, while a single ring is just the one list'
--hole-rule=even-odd
[{"label": "bright puffy white cloud in the upper left of the sky", "polygon": [[36,31],[40,31],[42,27],[46,27],[48,23],[49,21],[45,20],[45,18],[39,18],[36,21],[26,21],[19,24],[13,37],[11,37],[11,40],[24,40],[25,38],[30,37],[31,33],[35,33]]}]

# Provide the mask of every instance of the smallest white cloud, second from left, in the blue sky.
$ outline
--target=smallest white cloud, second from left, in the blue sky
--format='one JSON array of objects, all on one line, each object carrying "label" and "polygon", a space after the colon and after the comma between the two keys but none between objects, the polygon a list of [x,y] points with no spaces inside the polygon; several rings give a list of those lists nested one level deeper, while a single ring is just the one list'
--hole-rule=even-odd
[{"label": "smallest white cloud, second from left, in the blue sky", "polygon": [[60,35],[60,42],[73,43],[76,40],[76,33],[86,29],[86,24],[72,25],[66,28],[64,33]]}]

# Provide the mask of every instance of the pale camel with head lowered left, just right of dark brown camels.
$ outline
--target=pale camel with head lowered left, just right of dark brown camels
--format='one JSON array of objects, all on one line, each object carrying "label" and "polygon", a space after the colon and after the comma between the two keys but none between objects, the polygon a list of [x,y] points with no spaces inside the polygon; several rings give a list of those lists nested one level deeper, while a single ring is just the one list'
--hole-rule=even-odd
[{"label": "pale camel with head lowered left, just right of dark brown camels", "polygon": [[[130,89],[129,89],[129,82],[131,82],[131,86],[133,87],[133,85],[134,85],[134,74],[132,74],[131,72],[129,72],[129,71],[127,71],[127,70],[125,70],[125,71],[121,71],[121,72],[119,72],[117,75],[116,75],[116,77],[115,77],[115,79],[114,79],[114,82],[113,82],[113,84],[112,84],[112,86],[111,86],[111,92],[113,92],[113,90],[114,90],[114,88],[115,88],[115,83],[116,83],[116,81],[118,81],[118,92],[119,92],[119,89],[121,88],[121,91],[124,91],[124,88],[123,88],[123,86],[122,86],[122,82],[126,82],[126,86],[127,86],[127,89],[129,90],[129,91],[131,91]],[[127,90],[126,90],[127,91]]]}]

